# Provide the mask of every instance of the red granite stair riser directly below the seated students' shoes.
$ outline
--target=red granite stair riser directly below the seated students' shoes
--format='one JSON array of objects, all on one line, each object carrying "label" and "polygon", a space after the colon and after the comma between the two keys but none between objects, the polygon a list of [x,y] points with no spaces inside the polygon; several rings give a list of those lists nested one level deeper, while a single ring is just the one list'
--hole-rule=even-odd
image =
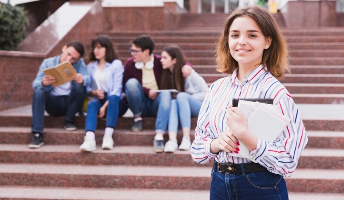
[{"label": "red granite stair riser directly below the seated students' shoes", "polygon": [[[98,146],[100,148],[100,146]],[[115,147],[116,148],[116,147]],[[153,147],[152,147],[153,148]],[[104,150],[105,151],[105,150]],[[130,161],[130,162],[128,162]],[[80,153],[80,152],[9,152],[0,154],[2,163],[82,164],[82,165],[131,165],[131,166],[191,166],[212,167],[212,162],[198,164],[190,154],[131,154],[131,153]],[[312,169],[343,169],[343,157],[301,156],[298,167]]]}]

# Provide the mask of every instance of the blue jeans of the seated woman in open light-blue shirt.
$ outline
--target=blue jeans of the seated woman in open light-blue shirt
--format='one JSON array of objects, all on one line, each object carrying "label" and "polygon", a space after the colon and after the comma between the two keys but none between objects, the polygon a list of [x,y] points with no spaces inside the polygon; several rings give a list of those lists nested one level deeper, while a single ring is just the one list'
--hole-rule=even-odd
[{"label": "blue jeans of the seated woman in open light-blue shirt", "polygon": [[97,114],[101,106],[109,100],[106,110],[106,127],[115,129],[118,119],[119,96],[111,95],[105,96],[104,99],[99,99],[97,102],[89,102],[87,105],[87,115],[85,120],[85,131],[95,132],[97,127]]}]

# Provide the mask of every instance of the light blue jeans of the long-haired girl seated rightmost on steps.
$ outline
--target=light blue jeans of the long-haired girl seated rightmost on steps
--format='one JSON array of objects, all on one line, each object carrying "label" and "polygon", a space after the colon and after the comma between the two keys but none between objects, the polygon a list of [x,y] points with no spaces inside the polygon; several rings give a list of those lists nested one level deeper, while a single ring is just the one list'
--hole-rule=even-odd
[{"label": "light blue jeans of the long-haired girl seated rightmost on steps", "polygon": [[178,131],[178,116],[182,128],[191,128],[191,117],[198,117],[202,102],[189,93],[178,93],[177,98],[171,101],[169,132],[176,133]]}]

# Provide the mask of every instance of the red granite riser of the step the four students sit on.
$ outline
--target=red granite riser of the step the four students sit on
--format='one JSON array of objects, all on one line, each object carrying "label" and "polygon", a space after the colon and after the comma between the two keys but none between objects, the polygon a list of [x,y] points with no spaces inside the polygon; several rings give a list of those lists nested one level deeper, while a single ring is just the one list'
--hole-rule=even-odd
[{"label": "red granite riser of the step the four students sit on", "polygon": [[[62,128],[63,127],[63,117],[45,117],[44,126],[51,128]],[[144,117],[143,118],[143,129],[154,130],[155,128],[155,118],[154,117]],[[117,129],[129,130],[132,125],[132,118],[120,117],[117,122]],[[344,131],[344,120],[307,120],[304,119],[303,123],[306,130],[325,130],[325,131]],[[191,128],[194,129],[197,124],[197,118],[191,119]],[[85,118],[77,117],[75,119],[75,125],[79,128],[84,129]],[[0,126],[2,127],[31,127],[31,117],[11,117],[11,116],[0,116]],[[106,124],[102,120],[98,120],[98,129],[104,129]]]}]

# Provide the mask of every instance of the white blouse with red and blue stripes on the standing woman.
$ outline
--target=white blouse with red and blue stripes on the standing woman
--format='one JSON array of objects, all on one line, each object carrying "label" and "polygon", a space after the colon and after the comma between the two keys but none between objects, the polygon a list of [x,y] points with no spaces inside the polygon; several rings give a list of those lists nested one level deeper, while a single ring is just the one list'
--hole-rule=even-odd
[{"label": "white blouse with red and blue stripes on the standing woman", "polygon": [[[238,68],[237,68],[238,69]],[[262,65],[249,73],[243,82],[237,78],[237,69],[229,77],[215,81],[203,101],[198,115],[195,140],[191,146],[192,159],[207,163],[214,159],[225,163],[259,163],[270,172],[290,177],[294,172],[308,138],[299,110],[287,89]],[[274,142],[258,139],[250,159],[234,157],[224,151],[210,152],[210,143],[227,129],[225,111],[233,98],[272,98],[284,116],[291,120]]]}]

